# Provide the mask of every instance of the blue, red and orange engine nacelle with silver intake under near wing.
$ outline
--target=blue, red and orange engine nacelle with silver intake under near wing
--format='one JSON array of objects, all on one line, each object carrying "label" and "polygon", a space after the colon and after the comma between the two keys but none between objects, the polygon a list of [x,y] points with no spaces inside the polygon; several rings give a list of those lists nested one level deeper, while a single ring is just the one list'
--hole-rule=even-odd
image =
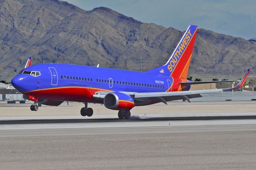
[{"label": "blue, red and orange engine nacelle with silver intake under near wing", "polygon": [[104,105],[112,110],[131,110],[134,107],[134,100],[130,95],[111,92],[105,96]]}]

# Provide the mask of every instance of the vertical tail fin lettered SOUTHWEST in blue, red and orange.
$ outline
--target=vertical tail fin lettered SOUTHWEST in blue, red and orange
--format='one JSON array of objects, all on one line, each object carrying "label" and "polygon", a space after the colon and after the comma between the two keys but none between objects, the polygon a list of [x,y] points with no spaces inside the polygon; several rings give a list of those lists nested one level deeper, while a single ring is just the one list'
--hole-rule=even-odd
[{"label": "vertical tail fin lettered SOUTHWEST in blue, red and orange", "polygon": [[168,62],[161,67],[147,71],[164,76],[186,79],[196,38],[197,26],[190,25],[175,48]]}]

